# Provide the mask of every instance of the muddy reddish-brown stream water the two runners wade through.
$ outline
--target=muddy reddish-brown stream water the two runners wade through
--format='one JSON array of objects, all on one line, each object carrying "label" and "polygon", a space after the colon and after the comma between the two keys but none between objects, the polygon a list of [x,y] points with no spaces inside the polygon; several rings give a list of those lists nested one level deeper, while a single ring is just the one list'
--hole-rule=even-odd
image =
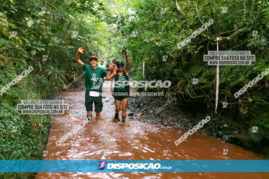
[{"label": "muddy reddish-brown stream water the two runners wade through", "polygon": [[[103,92],[112,92],[104,88]],[[63,144],[55,142],[86,118],[85,91],[68,90],[58,93],[69,104],[66,115],[53,115],[53,123],[46,145],[44,160],[119,159],[119,160],[185,160],[185,159],[263,159],[241,147],[195,132],[180,145],[174,141],[186,130],[146,124],[128,119],[123,126],[112,123],[115,104],[112,96],[103,98],[103,119],[93,120]],[[129,113],[127,109],[127,114]],[[137,114],[139,116],[139,112]],[[206,117],[206,116],[205,116]],[[223,149],[228,149],[223,155]],[[164,150],[168,150],[163,156]],[[268,173],[37,173],[40,178],[269,178]]]}]

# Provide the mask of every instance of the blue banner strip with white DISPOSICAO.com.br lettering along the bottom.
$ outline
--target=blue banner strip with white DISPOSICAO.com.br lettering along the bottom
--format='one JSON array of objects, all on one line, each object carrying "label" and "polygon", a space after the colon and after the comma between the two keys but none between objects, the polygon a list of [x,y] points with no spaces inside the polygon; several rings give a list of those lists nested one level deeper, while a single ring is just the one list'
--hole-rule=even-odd
[{"label": "blue banner strip with white DISPOSICAO.com.br lettering along the bottom", "polygon": [[269,172],[269,160],[0,160],[0,172]]}]

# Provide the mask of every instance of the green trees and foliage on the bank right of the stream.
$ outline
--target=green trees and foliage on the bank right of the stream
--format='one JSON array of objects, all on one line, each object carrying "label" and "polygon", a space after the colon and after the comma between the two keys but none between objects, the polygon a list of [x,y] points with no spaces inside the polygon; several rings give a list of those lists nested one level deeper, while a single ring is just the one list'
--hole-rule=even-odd
[{"label": "green trees and foliage on the bank right of the stream", "polygon": [[[268,2],[177,0],[180,11],[175,1],[168,0],[135,0],[121,5],[117,4],[120,1],[113,1],[116,5],[112,8],[109,8],[109,2],[104,2],[109,10],[103,20],[116,34],[111,42],[112,49],[122,47],[132,54],[130,75],[133,79],[142,80],[142,63],[145,61],[146,79],[172,81],[167,93],[168,96],[169,93],[175,95],[177,103],[201,103],[214,111],[216,66],[208,66],[203,55],[208,50],[216,50],[216,37],[226,38],[219,41],[219,50],[249,50],[256,55],[256,61],[250,66],[219,67],[219,108],[222,102],[239,102],[231,106],[235,120],[238,118],[236,113],[239,113],[251,121],[248,125],[262,127],[266,132],[260,135],[269,138],[268,114],[262,112],[269,110],[269,76],[249,88],[239,101],[233,95],[269,68]],[[222,7],[228,8],[226,13],[222,13]],[[166,9],[163,14],[160,13],[162,8]],[[178,48],[180,41],[210,19],[214,23],[208,29]],[[258,31],[256,37],[252,37],[252,30]],[[131,37],[134,31],[138,32],[137,37]],[[168,55],[165,62],[161,61],[163,55]],[[194,77],[199,78],[200,85],[190,84]],[[261,111],[256,110],[257,106]]]}]

